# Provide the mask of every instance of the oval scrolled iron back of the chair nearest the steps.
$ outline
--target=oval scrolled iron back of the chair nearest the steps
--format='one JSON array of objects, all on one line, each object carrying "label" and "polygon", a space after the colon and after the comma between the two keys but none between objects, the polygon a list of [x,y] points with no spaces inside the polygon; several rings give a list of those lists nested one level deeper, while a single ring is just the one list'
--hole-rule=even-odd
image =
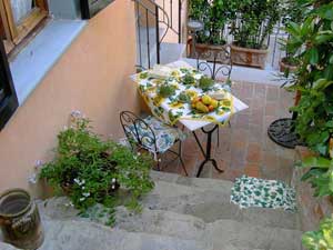
[{"label": "oval scrolled iron back of the chair nearest the steps", "polygon": [[131,111],[120,113],[120,122],[131,147],[158,152],[157,137],[153,129],[140,117]]}]

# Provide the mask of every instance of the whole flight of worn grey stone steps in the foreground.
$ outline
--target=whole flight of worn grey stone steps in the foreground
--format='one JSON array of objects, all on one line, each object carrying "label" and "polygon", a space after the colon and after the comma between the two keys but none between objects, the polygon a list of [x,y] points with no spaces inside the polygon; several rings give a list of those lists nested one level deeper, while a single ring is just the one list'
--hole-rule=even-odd
[{"label": "whole flight of worn grey stone steps in the foreground", "polygon": [[[41,250],[301,250],[295,213],[239,209],[232,182],[152,171],[154,190],[142,213],[117,210],[114,228],[77,217],[67,198],[39,203]],[[1,248],[11,250],[11,248]]]}]

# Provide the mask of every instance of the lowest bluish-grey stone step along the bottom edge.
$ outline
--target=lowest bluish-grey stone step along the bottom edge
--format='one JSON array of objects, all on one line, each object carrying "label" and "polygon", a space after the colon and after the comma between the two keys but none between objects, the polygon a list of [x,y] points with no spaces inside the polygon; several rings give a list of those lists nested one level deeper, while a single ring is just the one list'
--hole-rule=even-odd
[{"label": "lowest bluish-grey stone step along the bottom edge", "polygon": [[44,220],[46,240],[39,250],[213,250],[198,240],[115,230],[83,221]]}]

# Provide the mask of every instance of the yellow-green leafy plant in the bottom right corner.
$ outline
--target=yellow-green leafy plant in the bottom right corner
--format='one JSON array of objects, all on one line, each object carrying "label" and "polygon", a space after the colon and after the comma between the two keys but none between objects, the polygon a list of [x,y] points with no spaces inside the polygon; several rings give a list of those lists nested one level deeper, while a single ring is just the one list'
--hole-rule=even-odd
[{"label": "yellow-green leafy plant in the bottom right corner", "polygon": [[302,242],[307,250],[332,250],[333,217],[324,219],[317,231],[305,232],[302,237]]}]

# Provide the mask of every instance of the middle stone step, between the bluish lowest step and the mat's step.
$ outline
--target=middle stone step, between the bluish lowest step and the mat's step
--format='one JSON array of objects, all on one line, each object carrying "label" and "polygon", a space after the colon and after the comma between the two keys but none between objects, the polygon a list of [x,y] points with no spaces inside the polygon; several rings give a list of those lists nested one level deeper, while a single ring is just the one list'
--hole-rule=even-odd
[{"label": "middle stone step, between the bluish lowest step and the mat's step", "polygon": [[226,249],[225,246],[271,250],[301,249],[302,233],[297,230],[234,220],[205,223],[196,217],[170,211],[144,209],[140,214],[131,214],[122,209],[118,212],[117,221],[118,229],[212,242],[214,249]]}]

